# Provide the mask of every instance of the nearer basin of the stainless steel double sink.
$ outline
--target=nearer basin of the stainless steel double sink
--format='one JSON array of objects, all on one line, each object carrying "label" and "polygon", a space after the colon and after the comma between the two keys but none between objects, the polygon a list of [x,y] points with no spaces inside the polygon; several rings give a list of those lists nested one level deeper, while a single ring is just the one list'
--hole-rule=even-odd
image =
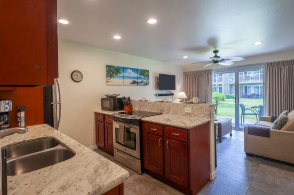
[{"label": "nearer basin of the stainless steel double sink", "polygon": [[53,148],[42,152],[36,152],[17,158],[12,158],[6,163],[7,175],[19,175],[28,173],[50,165],[54,165],[70,159],[74,153],[66,148]]}]

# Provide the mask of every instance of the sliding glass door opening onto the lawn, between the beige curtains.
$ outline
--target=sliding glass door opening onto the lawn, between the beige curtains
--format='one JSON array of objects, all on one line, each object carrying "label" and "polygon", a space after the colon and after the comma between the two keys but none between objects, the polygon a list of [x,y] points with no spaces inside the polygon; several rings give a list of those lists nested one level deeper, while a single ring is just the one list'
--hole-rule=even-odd
[{"label": "sliding glass door opening onto the lawn, between the beige curtains", "polygon": [[232,128],[243,130],[263,115],[262,68],[214,73],[212,83],[218,117],[231,118]]}]

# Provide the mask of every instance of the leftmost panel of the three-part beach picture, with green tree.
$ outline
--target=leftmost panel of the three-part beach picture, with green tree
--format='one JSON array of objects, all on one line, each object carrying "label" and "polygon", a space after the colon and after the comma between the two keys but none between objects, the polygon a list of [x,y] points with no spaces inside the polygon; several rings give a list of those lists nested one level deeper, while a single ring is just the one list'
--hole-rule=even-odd
[{"label": "leftmost panel of the three-part beach picture, with green tree", "polygon": [[123,67],[106,65],[106,85],[122,86],[123,85]]}]

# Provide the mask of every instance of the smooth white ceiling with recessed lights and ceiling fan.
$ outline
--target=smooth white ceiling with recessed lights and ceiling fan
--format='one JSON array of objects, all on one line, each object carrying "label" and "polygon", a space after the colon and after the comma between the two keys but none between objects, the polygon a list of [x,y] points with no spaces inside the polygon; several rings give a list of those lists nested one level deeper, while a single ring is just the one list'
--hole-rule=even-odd
[{"label": "smooth white ceiling with recessed lights and ceiling fan", "polygon": [[294,49],[294,0],[58,0],[57,9],[70,21],[59,39],[177,65],[208,61],[209,45],[221,57]]}]

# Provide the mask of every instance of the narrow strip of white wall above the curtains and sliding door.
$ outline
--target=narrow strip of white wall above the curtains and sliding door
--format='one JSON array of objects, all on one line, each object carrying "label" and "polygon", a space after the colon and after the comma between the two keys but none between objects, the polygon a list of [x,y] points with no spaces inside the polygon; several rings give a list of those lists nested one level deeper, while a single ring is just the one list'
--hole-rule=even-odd
[{"label": "narrow strip of white wall above the curtains and sliding door", "polygon": [[254,65],[254,64],[263,64],[267,62],[276,62],[276,61],[283,61],[283,60],[292,60],[294,59],[294,50],[291,51],[283,51],[283,52],[276,52],[270,54],[263,54],[258,56],[251,56],[246,57],[244,61],[235,62],[232,66],[224,66],[224,65],[210,65],[207,67],[202,67],[206,63],[199,63],[196,65],[185,65],[183,66],[183,71],[194,71],[194,70],[204,70],[204,69],[213,69],[213,70],[220,70],[222,68],[231,68],[241,65]]}]

